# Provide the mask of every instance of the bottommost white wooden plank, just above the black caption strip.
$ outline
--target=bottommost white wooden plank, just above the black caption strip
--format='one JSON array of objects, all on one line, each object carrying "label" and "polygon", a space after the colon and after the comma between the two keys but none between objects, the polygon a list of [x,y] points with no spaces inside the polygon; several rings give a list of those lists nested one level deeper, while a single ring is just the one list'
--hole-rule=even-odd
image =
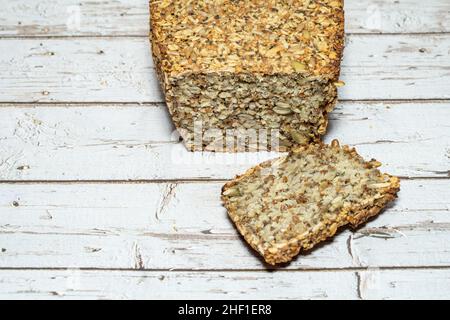
[{"label": "bottommost white wooden plank, just above the black caption strip", "polygon": [[450,296],[449,269],[295,273],[2,270],[0,279],[2,299],[356,300]]}]

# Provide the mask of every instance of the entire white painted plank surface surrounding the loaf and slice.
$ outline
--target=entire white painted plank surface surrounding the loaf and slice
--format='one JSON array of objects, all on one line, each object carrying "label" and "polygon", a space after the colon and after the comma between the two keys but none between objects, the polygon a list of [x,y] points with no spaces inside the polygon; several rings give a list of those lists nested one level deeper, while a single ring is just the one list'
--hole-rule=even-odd
[{"label": "entire white painted plank surface surrounding the loaf and slice", "polygon": [[448,0],[346,1],[347,86],[325,140],[382,161],[402,191],[271,272],[219,194],[276,155],[185,151],[146,0],[0,8],[0,298],[450,298]]}]

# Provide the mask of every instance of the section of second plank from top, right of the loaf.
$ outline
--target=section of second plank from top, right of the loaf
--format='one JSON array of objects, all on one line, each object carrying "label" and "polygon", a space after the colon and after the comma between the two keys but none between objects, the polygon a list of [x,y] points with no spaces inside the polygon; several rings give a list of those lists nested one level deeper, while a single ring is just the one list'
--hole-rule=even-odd
[{"label": "section of second plank from top, right of the loaf", "polygon": [[340,98],[447,99],[449,47],[450,35],[349,36]]}]

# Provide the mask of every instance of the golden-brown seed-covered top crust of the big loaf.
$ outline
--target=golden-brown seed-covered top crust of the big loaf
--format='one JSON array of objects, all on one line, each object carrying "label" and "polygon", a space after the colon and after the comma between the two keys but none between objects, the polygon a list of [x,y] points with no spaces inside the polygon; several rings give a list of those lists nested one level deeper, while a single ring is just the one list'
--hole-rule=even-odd
[{"label": "golden-brown seed-covered top crust of the big loaf", "polygon": [[338,79],[342,0],[155,0],[152,42],[162,72],[308,72]]}]

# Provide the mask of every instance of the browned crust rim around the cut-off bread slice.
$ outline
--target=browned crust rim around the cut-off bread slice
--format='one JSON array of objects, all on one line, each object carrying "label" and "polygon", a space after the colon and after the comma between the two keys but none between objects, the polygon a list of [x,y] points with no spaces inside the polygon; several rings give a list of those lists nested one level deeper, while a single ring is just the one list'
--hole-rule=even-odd
[{"label": "browned crust rim around the cut-off bread slice", "polygon": [[[323,143],[319,144],[324,145]],[[337,140],[334,140],[332,143],[332,147],[340,148],[339,142]],[[291,154],[302,153],[307,148],[308,146],[297,148],[293,150]],[[343,149],[352,157],[362,159],[362,157],[357,154],[355,149],[348,146],[344,146]],[[289,157],[289,155],[287,157]],[[224,196],[224,193],[239,184],[242,179],[251,177],[255,172],[262,170],[263,168],[270,167],[275,161],[279,161],[280,159],[261,163],[249,169],[243,175],[237,176],[233,181],[226,183],[222,188],[222,201],[224,206],[228,210],[229,217],[234,222],[236,228],[242,234],[247,243],[255,251],[257,251],[270,265],[277,265],[291,261],[293,257],[297,256],[301,251],[312,249],[318,243],[334,236],[341,227],[344,227],[346,225],[350,225],[352,228],[359,227],[360,225],[367,222],[370,218],[378,215],[389,202],[397,197],[397,193],[400,190],[400,180],[397,177],[388,174],[382,174],[381,177],[389,179],[389,186],[380,189],[380,193],[383,195],[383,197],[376,199],[372,204],[366,205],[364,207],[355,206],[344,208],[337,215],[336,219],[324,220],[322,222],[321,228],[314,228],[316,230],[310,230],[308,234],[299,235],[284,243],[283,245],[277,245],[275,247],[263,249],[260,245],[260,242],[258,241],[257,235],[253,234],[251,230],[248,230],[245,225],[240,223],[236,206],[233,203],[227,201],[227,197]],[[366,163],[368,166],[371,166],[373,168],[380,165],[380,163],[374,161]]]}]

